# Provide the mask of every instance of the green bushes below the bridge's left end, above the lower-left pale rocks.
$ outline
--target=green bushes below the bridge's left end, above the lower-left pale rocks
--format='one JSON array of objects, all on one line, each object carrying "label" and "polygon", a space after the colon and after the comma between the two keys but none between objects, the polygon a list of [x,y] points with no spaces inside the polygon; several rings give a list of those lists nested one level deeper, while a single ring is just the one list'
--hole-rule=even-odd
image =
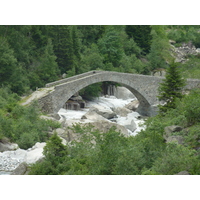
[{"label": "green bushes below the bridge's left end, above the lower-left pale rocks", "polygon": [[7,137],[20,148],[28,149],[36,142],[48,139],[48,129],[59,128],[56,122],[39,118],[36,105],[24,107],[18,104],[18,95],[8,88],[0,89],[0,137]]}]

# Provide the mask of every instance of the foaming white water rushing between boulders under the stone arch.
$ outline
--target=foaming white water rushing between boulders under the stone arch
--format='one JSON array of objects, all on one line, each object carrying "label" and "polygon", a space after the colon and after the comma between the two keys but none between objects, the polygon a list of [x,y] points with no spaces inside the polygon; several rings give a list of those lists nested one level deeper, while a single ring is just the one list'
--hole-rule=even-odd
[{"label": "foaming white water rushing between boulders under the stone arch", "polygon": [[[95,105],[103,106],[105,109],[112,110],[112,108],[123,108],[125,105],[133,101],[134,99],[118,99],[115,96],[106,96],[106,97],[99,97],[94,99],[93,101],[90,101],[87,103],[86,108],[82,110],[66,110],[61,108],[58,112],[59,115],[64,116],[67,120],[71,120],[74,123],[85,123],[90,120],[81,120],[81,117],[89,110],[90,107]],[[122,117],[117,115],[117,118],[114,118],[117,124],[124,125],[126,124],[127,120],[133,120],[136,124],[136,130],[134,132],[130,131],[128,132],[130,135],[136,135],[138,132],[140,132],[144,127],[141,127],[144,120],[138,119],[138,116],[140,116],[137,112],[131,112],[126,117]]]}]

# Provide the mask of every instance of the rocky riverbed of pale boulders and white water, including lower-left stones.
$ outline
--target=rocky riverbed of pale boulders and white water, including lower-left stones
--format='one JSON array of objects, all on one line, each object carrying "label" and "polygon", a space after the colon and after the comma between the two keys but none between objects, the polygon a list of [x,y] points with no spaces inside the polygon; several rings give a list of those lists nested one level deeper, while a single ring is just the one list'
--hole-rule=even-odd
[{"label": "rocky riverbed of pale boulders and white water, including lower-left stones", "polygon": [[[78,138],[78,134],[70,129],[74,123],[92,124],[102,132],[116,126],[117,130],[127,137],[135,135],[142,128],[139,123],[143,122],[141,116],[135,112],[138,102],[134,96],[131,96],[129,90],[120,87],[116,91],[119,99],[115,96],[100,97],[88,102],[87,107],[82,110],[61,109],[56,118],[55,116],[41,117],[61,123],[62,127],[56,129],[56,132],[64,144]],[[26,165],[35,163],[44,157],[42,152],[45,145],[46,143],[36,143],[32,148],[23,150],[19,149],[17,144],[0,143],[0,174],[24,173]]]}]

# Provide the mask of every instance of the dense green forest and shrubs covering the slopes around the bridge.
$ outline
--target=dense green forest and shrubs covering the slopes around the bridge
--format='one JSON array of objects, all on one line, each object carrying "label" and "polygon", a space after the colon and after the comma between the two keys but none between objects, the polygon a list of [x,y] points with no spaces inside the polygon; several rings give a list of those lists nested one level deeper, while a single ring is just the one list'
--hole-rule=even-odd
[{"label": "dense green forest and shrubs covering the slopes around the bridge", "polygon": [[[1,25],[0,140],[6,137],[23,149],[47,142],[44,161],[31,166],[30,174],[200,174],[199,89],[176,99],[165,114],[148,118],[146,130],[134,137],[74,126],[82,139],[72,146],[62,145],[56,133],[48,137],[49,127],[59,124],[40,119],[36,105],[19,105],[21,96],[46,83],[90,70],[150,75],[168,69],[174,62],[170,40],[175,47],[190,42],[200,48],[200,26]],[[199,61],[199,55],[190,55],[178,63],[181,76],[200,79]],[[91,99],[103,87],[94,84],[80,94]],[[165,142],[164,128],[171,125],[183,128],[174,133],[184,138],[183,145]]]}]

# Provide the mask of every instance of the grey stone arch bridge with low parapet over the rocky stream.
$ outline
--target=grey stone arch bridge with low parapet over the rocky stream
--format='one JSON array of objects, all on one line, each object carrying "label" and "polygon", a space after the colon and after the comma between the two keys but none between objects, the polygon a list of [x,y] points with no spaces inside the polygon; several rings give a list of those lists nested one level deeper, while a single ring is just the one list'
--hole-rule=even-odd
[{"label": "grey stone arch bridge with low parapet over the rocky stream", "polygon": [[[38,100],[42,110],[46,113],[57,113],[65,102],[79,90],[98,82],[111,81],[120,83],[128,88],[138,99],[137,112],[141,115],[155,114],[155,105],[158,101],[158,87],[163,77],[140,74],[120,73],[113,71],[90,71],[70,78],[46,84],[34,92],[27,102]],[[200,87],[199,79],[188,79],[185,90]],[[26,104],[24,103],[24,104]]]}]

